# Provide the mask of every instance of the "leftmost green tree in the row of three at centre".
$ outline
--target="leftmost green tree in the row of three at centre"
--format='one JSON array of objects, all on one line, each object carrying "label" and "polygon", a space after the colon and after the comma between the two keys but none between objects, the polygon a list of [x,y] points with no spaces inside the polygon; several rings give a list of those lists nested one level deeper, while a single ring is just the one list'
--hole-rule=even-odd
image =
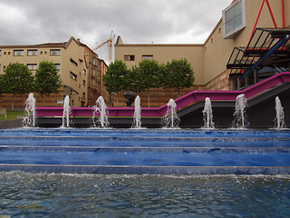
[{"label": "leftmost green tree in the row of three at centre", "polygon": [[117,94],[117,106],[119,92],[128,89],[131,83],[129,82],[129,74],[130,71],[127,65],[121,60],[116,60],[108,66],[106,74],[102,77],[103,84],[107,91]]}]

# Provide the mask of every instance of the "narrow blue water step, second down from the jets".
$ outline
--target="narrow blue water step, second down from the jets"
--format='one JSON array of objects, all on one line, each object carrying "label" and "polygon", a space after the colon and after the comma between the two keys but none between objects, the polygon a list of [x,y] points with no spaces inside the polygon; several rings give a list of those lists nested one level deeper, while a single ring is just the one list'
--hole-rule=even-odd
[{"label": "narrow blue water step, second down from the jets", "polygon": [[290,147],[290,137],[0,136],[1,145],[98,147]]}]

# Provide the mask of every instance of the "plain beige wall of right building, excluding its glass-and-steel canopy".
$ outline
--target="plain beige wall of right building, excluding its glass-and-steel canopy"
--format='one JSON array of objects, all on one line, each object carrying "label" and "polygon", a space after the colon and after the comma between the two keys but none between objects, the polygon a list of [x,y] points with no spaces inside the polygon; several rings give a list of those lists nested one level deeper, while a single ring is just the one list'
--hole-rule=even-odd
[{"label": "plain beige wall of right building, excluding its glass-and-steel canopy", "polygon": [[[115,60],[122,60],[131,68],[142,59],[154,59],[160,64],[166,64],[172,59],[186,58],[195,73],[195,82],[191,90],[237,89],[237,85],[233,84],[239,83],[238,79],[229,76],[230,70],[227,69],[227,62],[234,47],[247,45],[262,2],[263,0],[233,1],[225,8],[222,18],[208,35],[204,44],[133,45],[119,43],[115,45]],[[282,17],[282,2],[284,2],[284,18]],[[268,3],[277,27],[283,27],[283,23],[285,23],[285,27],[289,27],[290,0],[268,0]],[[266,2],[256,27],[275,27]]]}]

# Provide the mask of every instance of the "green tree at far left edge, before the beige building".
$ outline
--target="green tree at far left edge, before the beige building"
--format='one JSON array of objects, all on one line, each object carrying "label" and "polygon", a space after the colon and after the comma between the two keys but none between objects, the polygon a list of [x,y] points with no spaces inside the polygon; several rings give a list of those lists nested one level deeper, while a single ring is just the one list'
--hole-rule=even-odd
[{"label": "green tree at far left edge, before the beige building", "polygon": [[34,90],[34,75],[24,64],[10,63],[1,76],[4,94],[13,94],[12,110],[14,110],[15,94],[27,94]]}]

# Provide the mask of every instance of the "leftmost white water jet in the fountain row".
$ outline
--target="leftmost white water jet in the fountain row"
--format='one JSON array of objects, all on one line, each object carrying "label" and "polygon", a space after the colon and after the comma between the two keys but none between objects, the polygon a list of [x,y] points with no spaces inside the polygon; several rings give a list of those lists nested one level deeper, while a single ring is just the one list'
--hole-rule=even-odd
[{"label": "leftmost white water jet in the fountain row", "polygon": [[23,121],[26,127],[35,126],[35,102],[34,94],[29,94],[25,102],[25,116]]}]

